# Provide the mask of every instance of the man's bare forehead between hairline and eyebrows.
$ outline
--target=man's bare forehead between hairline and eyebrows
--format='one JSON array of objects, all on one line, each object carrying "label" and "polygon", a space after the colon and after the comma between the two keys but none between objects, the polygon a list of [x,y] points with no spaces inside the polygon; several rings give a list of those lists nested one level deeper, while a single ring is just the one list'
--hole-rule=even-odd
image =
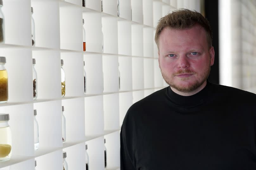
[{"label": "man's bare forehead between hairline and eyebrows", "polygon": [[200,25],[186,29],[165,27],[160,33],[159,50],[166,48],[208,48],[206,31]]}]

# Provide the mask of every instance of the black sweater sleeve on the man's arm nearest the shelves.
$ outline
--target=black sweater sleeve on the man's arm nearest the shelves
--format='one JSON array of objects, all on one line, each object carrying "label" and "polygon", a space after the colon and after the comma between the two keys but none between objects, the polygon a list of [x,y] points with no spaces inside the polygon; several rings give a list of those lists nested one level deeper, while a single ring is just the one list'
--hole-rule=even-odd
[{"label": "black sweater sleeve on the man's arm nearest the shelves", "polygon": [[136,170],[132,153],[132,125],[127,121],[128,112],[123,121],[120,132],[120,169],[121,170]]}]

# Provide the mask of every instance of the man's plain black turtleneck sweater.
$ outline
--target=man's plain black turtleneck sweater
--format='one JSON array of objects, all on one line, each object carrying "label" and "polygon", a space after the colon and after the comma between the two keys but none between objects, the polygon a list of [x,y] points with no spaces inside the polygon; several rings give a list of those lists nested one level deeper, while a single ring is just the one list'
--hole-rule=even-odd
[{"label": "man's plain black turtleneck sweater", "polygon": [[255,170],[256,95],[215,85],[170,86],[134,103],[120,133],[121,170]]}]

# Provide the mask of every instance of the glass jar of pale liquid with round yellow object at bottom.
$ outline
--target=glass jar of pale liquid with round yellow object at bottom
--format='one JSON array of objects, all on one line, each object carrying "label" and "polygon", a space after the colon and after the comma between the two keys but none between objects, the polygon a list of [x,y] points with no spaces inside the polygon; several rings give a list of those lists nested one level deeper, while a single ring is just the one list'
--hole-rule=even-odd
[{"label": "glass jar of pale liquid with round yellow object at bottom", "polygon": [[11,159],[12,139],[9,114],[0,114],[0,161]]}]

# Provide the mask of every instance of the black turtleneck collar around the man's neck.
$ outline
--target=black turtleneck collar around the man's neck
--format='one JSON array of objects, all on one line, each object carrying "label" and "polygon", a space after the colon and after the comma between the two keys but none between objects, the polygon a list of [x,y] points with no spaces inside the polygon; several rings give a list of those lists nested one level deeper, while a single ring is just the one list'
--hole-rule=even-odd
[{"label": "black turtleneck collar around the man's neck", "polygon": [[167,87],[167,94],[168,98],[170,99],[170,102],[181,107],[193,107],[201,105],[202,103],[207,101],[207,98],[209,97],[209,94],[211,92],[210,86],[211,83],[207,79],[206,86],[201,91],[192,96],[181,96],[172,91],[169,86]]}]

